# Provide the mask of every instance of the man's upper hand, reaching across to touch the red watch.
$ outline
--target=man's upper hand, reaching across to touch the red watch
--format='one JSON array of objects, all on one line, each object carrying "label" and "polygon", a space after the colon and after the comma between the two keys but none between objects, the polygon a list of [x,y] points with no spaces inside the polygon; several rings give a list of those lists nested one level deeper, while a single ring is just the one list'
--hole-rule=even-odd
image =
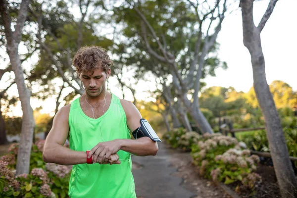
[{"label": "man's upper hand, reaching across to touch the red watch", "polygon": [[93,163],[99,163],[108,161],[110,155],[117,153],[121,148],[120,140],[112,140],[108,142],[98,143],[89,152],[89,157],[93,155]]}]

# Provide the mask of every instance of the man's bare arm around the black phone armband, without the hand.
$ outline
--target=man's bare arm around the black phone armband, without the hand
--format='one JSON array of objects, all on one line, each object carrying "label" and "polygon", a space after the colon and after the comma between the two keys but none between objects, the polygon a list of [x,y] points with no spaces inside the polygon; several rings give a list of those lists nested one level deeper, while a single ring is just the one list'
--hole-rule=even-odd
[{"label": "man's bare arm around the black phone armband, without the hand", "polygon": [[[127,117],[127,125],[130,131],[140,127],[140,119],[142,118],[136,106],[127,100],[121,99]],[[120,149],[139,156],[156,155],[158,144],[148,137],[139,138],[137,140],[120,139]]]}]

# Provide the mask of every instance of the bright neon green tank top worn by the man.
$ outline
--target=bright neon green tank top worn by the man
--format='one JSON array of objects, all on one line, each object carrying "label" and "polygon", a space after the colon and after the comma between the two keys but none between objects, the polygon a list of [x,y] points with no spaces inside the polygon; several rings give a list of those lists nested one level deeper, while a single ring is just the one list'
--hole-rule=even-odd
[{"label": "bright neon green tank top worn by the man", "polygon": [[[99,142],[130,139],[127,118],[120,99],[114,95],[107,111],[99,118],[88,117],[79,98],[70,106],[70,148],[91,150]],[[69,181],[70,198],[136,198],[129,152],[117,152],[121,164],[74,165]]]}]

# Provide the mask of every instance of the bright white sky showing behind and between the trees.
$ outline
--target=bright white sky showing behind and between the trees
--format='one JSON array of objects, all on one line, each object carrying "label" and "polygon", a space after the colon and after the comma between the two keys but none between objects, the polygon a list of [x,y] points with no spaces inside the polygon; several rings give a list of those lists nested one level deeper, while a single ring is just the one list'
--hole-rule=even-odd
[{"label": "bright white sky showing behind and between the trees", "polygon": [[[265,12],[269,0],[256,1],[254,3],[254,22],[257,25]],[[297,0],[279,0],[275,9],[261,32],[261,43],[265,58],[265,72],[268,84],[274,80],[282,80],[297,91],[297,23],[295,8]],[[228,64],[227,70],[217,69],[215,77],[206,77],[204,82],[206,87],[222,86],[234,87],[237,91],[248,92],[252,87],[252,67],[250,55],[243,45],[242,17],[241,10],[228,15],[222,24],[222,29],[218,35],[217,42],[220,44],[218,51],[219,58]],[[0,51],[0,55],[3,54]],[[30,64],[30,63],[28,63]],[[29,66],[29,65],[28,65]],[[0,56],[0,69],[5,68]],[[8,76],[3,76],[0,82],[0,90],[4,89],[4,81]],[[137,86],[137,99],[148,99],[148,90],[154,89],[152,82],[141,82]],[[57,82],[59,85],[59,82]],[[3,87],[3,88],[2,88]],[[116,80],[110,78],[108,87],[111,92],[122,98],[122,93],[118,89]],[[11,87],[8,94],[15,93],[16,86]],[[129,91],[126,92],[127,100],[132,100]],[[52,104],[52,105],[49,105]],[[55,99],[47,99],[45,102],[32,100],[33,108],[42,105],[42,113],[49,113],[54,110]],[[20,102],[13,109],[14,116],[21,116]]]}]

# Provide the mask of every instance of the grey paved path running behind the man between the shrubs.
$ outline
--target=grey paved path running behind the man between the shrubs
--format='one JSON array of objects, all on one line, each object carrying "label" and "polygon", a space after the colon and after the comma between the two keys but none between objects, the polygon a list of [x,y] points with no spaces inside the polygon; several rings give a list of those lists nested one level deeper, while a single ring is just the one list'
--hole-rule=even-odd
[{"label": "grey paved path running behind the man between the shrubs", "polygon": [[176,168],[170,165],[170,154],[164,143],[158,143],[156,156],[133,156],[132,161],[141,164],[134,169],[135,190],[138,198],[191,198],[195,194],[180,186],[182,178],[172,175]]}]

